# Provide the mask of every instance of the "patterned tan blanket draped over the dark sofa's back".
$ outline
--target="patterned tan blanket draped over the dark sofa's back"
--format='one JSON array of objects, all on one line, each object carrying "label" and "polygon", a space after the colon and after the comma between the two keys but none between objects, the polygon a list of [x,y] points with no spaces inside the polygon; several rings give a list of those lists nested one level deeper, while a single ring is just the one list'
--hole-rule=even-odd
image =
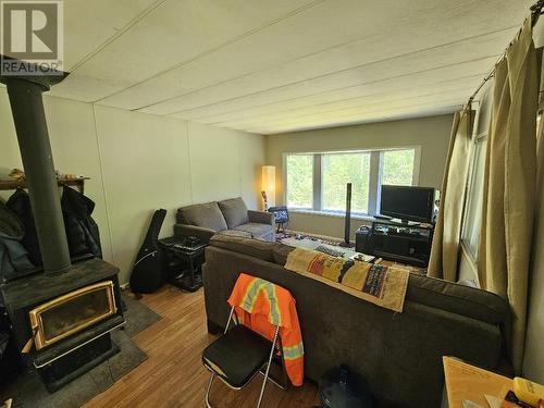
[{"label": "patterned tan blanket draped over the dark sofa's back", "polygon": [[295,248],[287,256],[285,269],[380,307],[403,311],[409,277],[404,269],[354,262],[305,248]]}]

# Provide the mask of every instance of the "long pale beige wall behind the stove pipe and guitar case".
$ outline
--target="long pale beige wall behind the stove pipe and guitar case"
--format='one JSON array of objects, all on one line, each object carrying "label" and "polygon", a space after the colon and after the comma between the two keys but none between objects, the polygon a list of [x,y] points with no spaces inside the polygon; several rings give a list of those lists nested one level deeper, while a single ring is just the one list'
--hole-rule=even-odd
[{"label": "long pale beige wall behind the stove pipe and guitar case", "polygon": [[[161,230],[168,236],[180,206],[242,196],[260,207],[263,136],[52,97],[45,108],[55,168],[91,178],[85,188],[97,205],[104,258],[123,283],[154,209],[169,211]],[[0,140],[4,177],[22,168],[5,89]]]}]

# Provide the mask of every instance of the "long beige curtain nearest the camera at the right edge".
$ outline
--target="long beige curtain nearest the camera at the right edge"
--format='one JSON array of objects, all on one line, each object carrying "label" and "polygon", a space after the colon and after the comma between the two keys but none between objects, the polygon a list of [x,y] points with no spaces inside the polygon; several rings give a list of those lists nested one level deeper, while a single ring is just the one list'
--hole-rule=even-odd
[{"label": "long beige curtain nearest the camera at the right edge", "polygon": [[532,240],[539,70],[530,18],[495,67],[484,172],[480,285],[508,299],[509,350],[521,370]]}]

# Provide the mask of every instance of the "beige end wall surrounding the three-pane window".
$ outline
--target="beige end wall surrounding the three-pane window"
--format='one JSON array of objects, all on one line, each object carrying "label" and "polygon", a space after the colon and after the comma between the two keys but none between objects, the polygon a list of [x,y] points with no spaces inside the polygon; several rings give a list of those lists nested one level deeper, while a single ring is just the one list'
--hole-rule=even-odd
[{"label": "beige end wall surrounding the three-pane window", "polygon": [[[268,136],[267,164],[276,166],[276,203],[281,205],[284,201],[282,164],[283,153],[287,152],[420,146],[419,184],[440,188],[452,121],[453,115],[447,114]],[[362,223],[357,219],[351,221],[351,239],[355,238],[355,230]],[[343,237],[344,219],[334,215],[292,213],[289,228]]]}]

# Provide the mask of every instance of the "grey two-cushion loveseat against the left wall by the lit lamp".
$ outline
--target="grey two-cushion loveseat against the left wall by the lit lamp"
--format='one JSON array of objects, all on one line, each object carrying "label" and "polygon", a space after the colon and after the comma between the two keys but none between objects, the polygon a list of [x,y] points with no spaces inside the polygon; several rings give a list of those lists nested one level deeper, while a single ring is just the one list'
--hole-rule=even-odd
[{"label": "grey two-cushion loveseat against the left wall by the lit lamp", "polygon": [[176,236],[193,235],[207,243],[217,233],[273,242],[274,215],[248,210],[240,197],[177,209]]}]

